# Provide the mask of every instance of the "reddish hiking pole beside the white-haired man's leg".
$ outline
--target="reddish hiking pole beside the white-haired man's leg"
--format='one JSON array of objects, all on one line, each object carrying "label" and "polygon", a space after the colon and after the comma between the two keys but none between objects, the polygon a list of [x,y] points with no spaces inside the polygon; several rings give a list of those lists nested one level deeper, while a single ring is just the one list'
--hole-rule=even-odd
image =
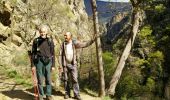
[{"label": "reddish hiking pole beside the white-haired man's leg", "polygon": [[36,78],[36,72],[32,71],[32,80],[34,84],[34,93],[35,93],[35,98],[38,100],[39,97],[39,90],[38,90],[38,84],[37,84],[37,78]]}]

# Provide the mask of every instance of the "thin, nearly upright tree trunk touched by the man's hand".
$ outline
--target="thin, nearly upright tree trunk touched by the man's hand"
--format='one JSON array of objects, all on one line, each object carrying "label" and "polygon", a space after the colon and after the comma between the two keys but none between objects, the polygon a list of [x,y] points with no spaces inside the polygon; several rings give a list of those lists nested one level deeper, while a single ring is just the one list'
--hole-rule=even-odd
[{"label": "thin, nearly upright tree trunk touched by the man's hand", "polygon": [[[94,34],[99,35],[96,0],[91,0],[91,5],[93,11]],[[102,97],[105,96],[105,80],[104,80],[104,72],[103,72],[103,59],[102,59],[102,48],[101,48],[100,37],[97,37],[95,44],[96,44],[97,64],[98,64],[98,73],[99,73],[99,82],[100,82],[99,96]]]}]

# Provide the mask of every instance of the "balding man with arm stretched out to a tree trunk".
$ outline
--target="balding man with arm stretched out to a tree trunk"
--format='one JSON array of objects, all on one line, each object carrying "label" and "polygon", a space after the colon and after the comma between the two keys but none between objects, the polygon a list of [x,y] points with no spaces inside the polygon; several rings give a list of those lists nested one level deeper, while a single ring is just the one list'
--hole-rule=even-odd
[{"label": "balding man with arm stretched out to a tree trunk", "polygon": [[64,33],[65,41],[62,43],[60,56],[59,56],[59,70],[64,73],[64,89],[65,96],[64,99],[70,98],[70,82],[69,82],[69,74],[71,75],[71,80],[73,83],[73,92],[74,98],[77,100],[81,100],[79,94],[79,83],[78,83],[78,70],[77,70],[77,61],[76,61],[76,50],[77,48],[84,48],[91,45],[95,38],[88,42],[80,42],[78,40],[72,39],[72,33],[66,32]]}]

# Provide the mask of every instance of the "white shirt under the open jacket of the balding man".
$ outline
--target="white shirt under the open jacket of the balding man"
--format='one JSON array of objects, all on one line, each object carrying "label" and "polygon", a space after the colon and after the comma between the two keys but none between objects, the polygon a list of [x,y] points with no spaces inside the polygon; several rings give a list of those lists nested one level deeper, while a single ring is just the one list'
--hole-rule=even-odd
[{"label": "white shirt under the open jacket of the balding man", "polygon": [[73,61],[73,43],[67,43],[66,44],[66,60],[68,63],[71,63]]}]

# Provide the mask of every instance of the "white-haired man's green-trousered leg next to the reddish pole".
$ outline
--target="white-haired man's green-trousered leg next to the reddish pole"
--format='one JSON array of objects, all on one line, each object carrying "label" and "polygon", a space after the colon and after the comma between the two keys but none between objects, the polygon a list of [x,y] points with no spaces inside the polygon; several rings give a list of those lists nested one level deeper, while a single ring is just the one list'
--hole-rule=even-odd
[{"label": "white-haired man's green-trousered leg next to the reddish pole", "polygon": [[44,78],[44,74],[43,74],[43,68],[44,65],[41,61],[38,61],[37,65],[36,65],[36,73],[37,73],[37,80],[38,80],[38,89],[39,89],[39,95],[43,96],[44,95],[44,90],[43,90],[43,78]]}]

